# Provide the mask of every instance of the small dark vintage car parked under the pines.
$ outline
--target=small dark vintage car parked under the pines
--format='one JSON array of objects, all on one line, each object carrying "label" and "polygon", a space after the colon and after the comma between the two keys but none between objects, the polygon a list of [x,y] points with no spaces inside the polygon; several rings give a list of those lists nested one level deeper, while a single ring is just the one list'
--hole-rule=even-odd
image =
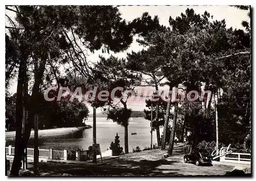
[{"label": "small dark vintage car parked under the pines", "polygon": [[195,162],[197,166],[211,163],[210,155],[207,151],[191,151],[185,154],[183,159],[185,163]]}]

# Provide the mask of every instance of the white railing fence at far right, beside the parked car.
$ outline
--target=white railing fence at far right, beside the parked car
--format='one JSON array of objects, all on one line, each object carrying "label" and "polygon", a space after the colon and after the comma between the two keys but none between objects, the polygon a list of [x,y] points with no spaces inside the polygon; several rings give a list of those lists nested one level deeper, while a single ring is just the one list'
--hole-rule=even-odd
[{"label": "white railing fence at far right, beside the parked car", "polygon": [[[248,159],[248,157],[250,157],[250,159]],[[251,154],[250,153],[230,153],[228,154],[228,156],[227,155],[221,156],[220,161],[241,163],[241,164],[251,164]]]}]

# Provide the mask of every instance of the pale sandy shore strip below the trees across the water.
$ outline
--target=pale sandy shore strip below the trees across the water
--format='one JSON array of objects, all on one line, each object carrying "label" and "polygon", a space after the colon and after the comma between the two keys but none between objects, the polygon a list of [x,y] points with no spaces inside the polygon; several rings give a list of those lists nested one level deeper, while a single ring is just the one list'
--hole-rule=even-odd
[{"label": "pale sandy shore strip below the trees across the water", "polygon": [[[76,132],[79,130],[89,129],[92,126],[80,126],[80,127],[64,127],[64,128],[52,128],[52,129],[42,129],[38,130],[38,137],[42,135],[60,135],[60,134],[68,134],[72,132]],[[31,130],[30,138],[34,137],[34,130]],[[15,131],[5,132],[6,140],[11,140],[15,138]]]}]

